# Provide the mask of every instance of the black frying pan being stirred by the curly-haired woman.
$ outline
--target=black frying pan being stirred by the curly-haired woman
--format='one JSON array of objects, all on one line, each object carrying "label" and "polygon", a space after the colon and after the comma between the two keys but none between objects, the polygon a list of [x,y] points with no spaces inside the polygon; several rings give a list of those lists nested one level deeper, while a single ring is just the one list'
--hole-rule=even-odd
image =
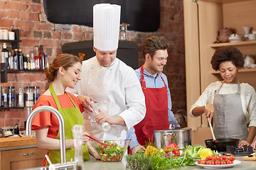
[{"label": "black frying pan being stirred by the curly-haired woman", "polygon": [[206,147],[212,150],[218,150],[219,152],[225,152],[227,146],[238,147],[239,140],[238,139],[217,139],[218,142],[214,142],[213,140],[205,140]]}]

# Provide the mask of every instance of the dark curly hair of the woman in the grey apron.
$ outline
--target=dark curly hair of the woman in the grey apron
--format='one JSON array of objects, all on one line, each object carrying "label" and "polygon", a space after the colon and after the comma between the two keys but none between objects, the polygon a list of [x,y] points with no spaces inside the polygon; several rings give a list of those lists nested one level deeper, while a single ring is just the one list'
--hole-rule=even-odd
[{"label": "dark curly hair of the woman in the grey apron", "polygon": [[215,50],[213,57],[210,60],[210,64],[215,71],[218,71],[220,69],[220,63],[228,61],[233,62],[235,67],[243,67],[245,64],[242,52],[232,45],[220,47]]}]

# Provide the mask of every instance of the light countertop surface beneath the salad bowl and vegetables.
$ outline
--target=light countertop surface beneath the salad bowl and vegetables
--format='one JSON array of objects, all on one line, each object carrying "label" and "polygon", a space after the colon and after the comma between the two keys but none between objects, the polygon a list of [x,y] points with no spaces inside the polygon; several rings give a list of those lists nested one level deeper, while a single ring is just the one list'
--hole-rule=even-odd
[{"label": "light countertop surface beneath the salad bowl and vegetables", "polygon": [[[255,169],[256,162],[251,161],[242,161],[242,157],[235,157],[236,160],[241,161],[241,164],[235,165],[233,167],[230,167],[228,169],[239,169],[239,170],[252,170]],[[101,169],[101,170],[111,170],[111,169],[126,169],[126,161],[123,160],[122,162],[102,162],[100,160],[91,159],[89,162],[85,162],[85,169]],[[177,169],[204,169],[201,166],[181,166]],[[223,168],[223,170],[228,170],[227,168]]]}]

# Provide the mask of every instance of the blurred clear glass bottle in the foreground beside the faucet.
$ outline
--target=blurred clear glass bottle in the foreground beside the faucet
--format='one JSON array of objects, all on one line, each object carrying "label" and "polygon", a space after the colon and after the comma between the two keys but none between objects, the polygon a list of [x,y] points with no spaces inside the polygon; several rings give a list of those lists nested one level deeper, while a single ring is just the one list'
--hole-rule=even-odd
[{"label": "blurred clear glass bottle in the foreground beside the faucet", "polygon": [[75,155],[74,155],[74,170],[83,170],[83,158],[82,158],[82,132],[84,128],[82,125],[74,125],[72,128]]}]

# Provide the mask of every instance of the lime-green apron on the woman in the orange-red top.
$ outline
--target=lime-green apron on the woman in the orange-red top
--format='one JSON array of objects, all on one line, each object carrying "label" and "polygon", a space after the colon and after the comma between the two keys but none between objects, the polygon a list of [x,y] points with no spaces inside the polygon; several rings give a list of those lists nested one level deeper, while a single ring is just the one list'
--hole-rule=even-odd
[{"label": "lime-green apron on the woman in the orange-red top", "polygon": [[[55,91],[53,89],[53,86],[50,85],[49,87],[50,93],[53,95],[53,98],[55,100],[55,103],[58,107],[58,111],[61,113],[64,119],[65,123],[65,140],[70,140],[73,139],[73,133],[72,133],[72,128],[74,125],[84,125],[84,120],[82,117],[82,114],[78,108],[78,106],[75,105],[74,101],[72,98],[70,100],[74,104],[75,108],[61,108],[60,107],[60,102],[58,101],[57,95],[55,94]],[[60,131],[58,131],[58,135],[56,139],[60,139]],[[85,161],[90,160],[89,157],[89,152],[87,145],[82,145],[82,154],[83,154],[83,159]],[[75,155],[75,149],[74,147],[66,148],[66,161],[70,162],[71,159],[74,160],[74,155]],[[60,163],[60,149],[49,149],[49,158],[50,161],[53,164]],[[46,162],[46,165],[49,165],[48,162]]]}]

